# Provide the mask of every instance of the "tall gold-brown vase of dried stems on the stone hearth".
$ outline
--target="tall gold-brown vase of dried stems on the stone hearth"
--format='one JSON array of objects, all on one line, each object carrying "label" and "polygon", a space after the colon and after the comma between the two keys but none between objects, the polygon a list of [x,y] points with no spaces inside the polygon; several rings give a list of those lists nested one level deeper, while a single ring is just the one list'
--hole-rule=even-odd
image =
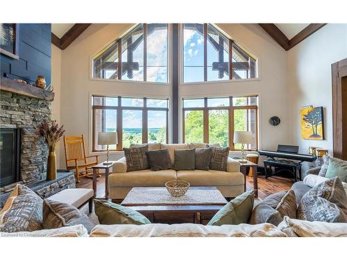
[{"label": "tall gold-brown vase of dried stems on the stone hearth", "polygon": [[46,178],[47,180],[56,180],[56,144],[65,133],[64,125],[59,127],[56,121],[51,121],[51,123],[45,121],[39,126],[38,132],[42,137],[44,137],[44,141],[46,141],[46,145],[49,148]]}]

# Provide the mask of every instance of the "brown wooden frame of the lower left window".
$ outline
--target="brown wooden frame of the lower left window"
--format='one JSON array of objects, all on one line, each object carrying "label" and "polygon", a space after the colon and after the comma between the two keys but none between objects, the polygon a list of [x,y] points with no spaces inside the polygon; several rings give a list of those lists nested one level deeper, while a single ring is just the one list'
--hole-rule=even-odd
[{"label": "brown wooden frame of the lower left window", "polygon": [[[166,112],[166,118],[167,118],[167,125],[166,125],[166,142],[168,144],[169,142],[169,98],[142,98],[144,100],[144,105],[142,107],[128,107],[128,106],[122,106],[121,105],[121,98],[139,98],[139,97],[128,97],[128,96],[99,96],[99,95],[93,95],[94,97],[100,97],[100,98],[118,98],[117,105],[111,106],[111,105],[92,105],[92,152],[104,152],[105,150],[96,150],[96,143],[95,143],[95,111],[96,110],[117,110],[117,137],[118,137],[118,144],[116,150],[110,150],[110,151],[121,151],[123,150],[123,111],[124,110],[137,110],[142,111],[142,144],[148,143],[148,112],[149,111],[165,111]],[[158,99],[158,100],[166,100],[168,103],[168,107],[147,107],[147,99]],[[104,116],[103,116],[104,117]]]}]

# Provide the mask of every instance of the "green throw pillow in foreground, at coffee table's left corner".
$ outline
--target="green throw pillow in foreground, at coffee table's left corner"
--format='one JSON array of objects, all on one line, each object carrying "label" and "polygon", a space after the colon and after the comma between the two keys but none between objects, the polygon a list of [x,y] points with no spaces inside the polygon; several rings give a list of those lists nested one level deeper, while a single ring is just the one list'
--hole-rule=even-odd
[{"label": "green throw pillow in foreground, at coffee table's left corner", "polygon": [[151,224],[148,218],[139,212],[108,200],[94,200],[95,214],[101,225],[114,224]]}]

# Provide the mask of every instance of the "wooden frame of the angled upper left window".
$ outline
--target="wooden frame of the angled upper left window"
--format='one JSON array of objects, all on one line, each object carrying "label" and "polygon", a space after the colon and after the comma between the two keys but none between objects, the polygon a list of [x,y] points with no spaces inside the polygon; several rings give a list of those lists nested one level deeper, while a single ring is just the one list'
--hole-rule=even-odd
[{"label": "wooden frame of the angled upper left window", "polygon": [[[137,24],[137,26],[135,26],[133,28],[133,30],[131,30],[130,32],[128,32],[126,35],[124,35],[123,37],[119,37],[117,40],[115,40],[115,42],[112,42],[112,44],[110,44],[109,46],[112,46],[114,43],[117,43],[117,46],[118,46],[118,63],[117,63],[117,80],[122,80],[122,75],[123,75],[123,71],[121,69],[121,54],[122,54],[122,44],[121,44],[121,40],[129,35],[130,33],[133,33],[133,31],[139,26],[139,25],[142,25],[143,26],[143,42],[144,42],[144,79],[143,80],[126,80],[126,81],[138,81],[138,82],[150,82],[150,83],[155,83],[155,82],[152,82],[152,81],[147,81],[147,26],[148,24]],[[116,44],[115,44],[116,46]],[[167,24],[167,56],[169,56],[169,24]],[[103,53],[105,51],[108,50],[108,47],[106,47],[105,50],[103,50],[101,53],[99,53],[98,55],[96,55],[94,58],[93,58],[93,68],[92,68],[92,78],[101,78],[101,77],[95,77],[95,68],[94,68],[94,62],[97,58],[100,57],[100,55],[103,55]],[[101,78],[101,79],[105,79],[105,78]],[[162,84],[167,84],[169,83],[169,59],[167,58],[167,82],[165,83],[162,83]]]}]

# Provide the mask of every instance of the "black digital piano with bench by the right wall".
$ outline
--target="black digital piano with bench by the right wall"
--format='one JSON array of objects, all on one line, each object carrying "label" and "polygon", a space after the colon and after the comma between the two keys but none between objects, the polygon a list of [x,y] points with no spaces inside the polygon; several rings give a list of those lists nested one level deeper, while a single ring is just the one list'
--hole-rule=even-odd
[{"label": "black digital piano with bench by the right wall", "polygon": [[[298,175],[299,180],[301,180],[301,163],[314,162],[316,155],[299,154],[298,150],[298,146],[287,146],[283,144],[278,145],[277,151],[258,150],[259,155],[269,157],[269,159],[264,159],[266,179],[281,171],[289,171],[294,175],[295,182],[298,180]],[[272,167],[275,168],[275,171],[272,171]]]}]

